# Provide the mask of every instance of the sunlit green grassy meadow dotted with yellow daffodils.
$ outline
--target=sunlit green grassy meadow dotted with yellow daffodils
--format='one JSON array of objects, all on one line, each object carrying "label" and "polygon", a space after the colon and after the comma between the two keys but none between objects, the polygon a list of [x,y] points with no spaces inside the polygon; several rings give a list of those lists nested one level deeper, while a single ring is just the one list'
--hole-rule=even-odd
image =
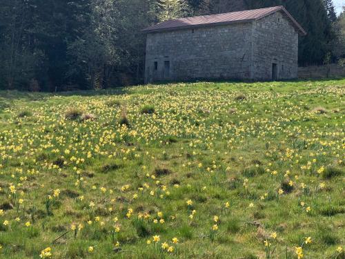
[{"label": "sunlit green grassy meadow dotted with yellow daffodils", "polygon": [[0,258],[344,259],[345,79],[0,91]]}]

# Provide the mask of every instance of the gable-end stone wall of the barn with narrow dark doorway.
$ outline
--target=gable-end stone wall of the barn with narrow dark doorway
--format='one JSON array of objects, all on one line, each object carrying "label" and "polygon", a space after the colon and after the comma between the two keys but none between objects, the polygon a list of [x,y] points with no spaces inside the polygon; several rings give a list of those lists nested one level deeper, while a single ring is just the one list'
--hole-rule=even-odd
[{"label": "gable-end stone wall of the barn with narrow dark doorway", "polygon": [[297,78],[298,33],[281,12],[253,22],[253,79]]}]

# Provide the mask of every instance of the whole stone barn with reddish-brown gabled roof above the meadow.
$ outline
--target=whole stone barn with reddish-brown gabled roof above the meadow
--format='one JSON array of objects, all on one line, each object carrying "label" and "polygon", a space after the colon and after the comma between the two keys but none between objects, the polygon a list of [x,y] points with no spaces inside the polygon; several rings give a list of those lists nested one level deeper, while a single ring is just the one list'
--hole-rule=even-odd
[{"label": "whole stone barn with reddish-brown gabled roof above the meadow", "polygon": [[145,82],[297,77],[303,28],[282,6],[164,21],[147,34]]}]

